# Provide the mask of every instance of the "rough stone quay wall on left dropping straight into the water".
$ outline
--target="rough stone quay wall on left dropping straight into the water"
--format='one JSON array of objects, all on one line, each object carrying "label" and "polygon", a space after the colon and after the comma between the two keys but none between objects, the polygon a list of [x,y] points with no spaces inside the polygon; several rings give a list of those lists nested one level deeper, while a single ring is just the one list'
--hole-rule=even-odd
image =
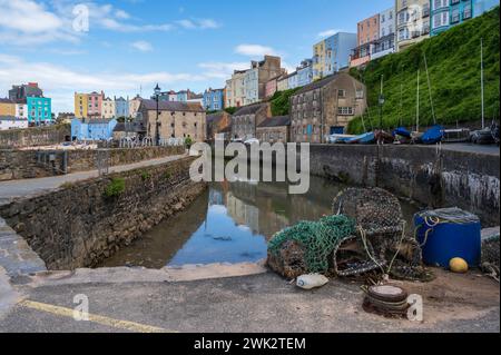
[{"label": "rough stone quay wall on left dropping straight into the water", "polygon": [[189,178],[193,160],[63,186],[1,206],[0,216],[48,269],[92,267],[183,211],[206,189],[206,184]]}]

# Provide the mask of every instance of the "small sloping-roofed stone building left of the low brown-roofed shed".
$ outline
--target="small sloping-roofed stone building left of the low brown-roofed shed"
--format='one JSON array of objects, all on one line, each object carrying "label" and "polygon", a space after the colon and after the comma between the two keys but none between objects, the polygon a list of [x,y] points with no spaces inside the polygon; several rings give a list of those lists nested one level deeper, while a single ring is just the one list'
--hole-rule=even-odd
[{"label": "small sloping-roofed stone building left of the low brown-roofed shed", "polygon": [[268,102],[245,106],[232,117],[232,137],[249,139],[256,137],[256,127],[272,116]]}]

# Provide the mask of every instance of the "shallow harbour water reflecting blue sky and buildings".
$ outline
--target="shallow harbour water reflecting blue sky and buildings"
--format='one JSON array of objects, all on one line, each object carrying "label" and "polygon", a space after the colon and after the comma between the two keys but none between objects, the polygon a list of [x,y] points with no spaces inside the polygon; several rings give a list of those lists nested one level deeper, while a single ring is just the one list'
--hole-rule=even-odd
[{"label": "shallow harbour water reflecting blue sky and buildings", "polygon": [[[161,223],[102,267],[161,268],[186,264],[257,262],[273,235],[299,220],[331,214],[343,186],[312,177],[310,191],[288,195],[283,183],[214,183],[178,216]],[[416,207],[402,203],[412,220]]]}]

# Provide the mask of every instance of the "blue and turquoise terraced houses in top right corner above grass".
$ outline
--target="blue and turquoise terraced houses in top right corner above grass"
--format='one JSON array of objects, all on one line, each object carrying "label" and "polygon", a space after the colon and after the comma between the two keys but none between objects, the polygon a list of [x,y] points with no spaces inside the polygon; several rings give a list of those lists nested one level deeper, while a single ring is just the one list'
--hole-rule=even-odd
[{"label": "blue and turquoise terraced houses in top right corner above grass", "polygon": [[495,6],[499,6],[499,0],[431,0],[430,34],[442,33]]}]

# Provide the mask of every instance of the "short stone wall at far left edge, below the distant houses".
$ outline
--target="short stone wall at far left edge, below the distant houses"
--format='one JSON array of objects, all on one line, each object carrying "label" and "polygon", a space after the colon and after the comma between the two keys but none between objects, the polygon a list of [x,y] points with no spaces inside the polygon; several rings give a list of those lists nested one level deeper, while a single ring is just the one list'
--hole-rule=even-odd
[{"label": "short stone wall at far left edge, below the distant houses", "polygon": [[0,130],[0,149],[58,145],[70,136],[70,125]]}]

